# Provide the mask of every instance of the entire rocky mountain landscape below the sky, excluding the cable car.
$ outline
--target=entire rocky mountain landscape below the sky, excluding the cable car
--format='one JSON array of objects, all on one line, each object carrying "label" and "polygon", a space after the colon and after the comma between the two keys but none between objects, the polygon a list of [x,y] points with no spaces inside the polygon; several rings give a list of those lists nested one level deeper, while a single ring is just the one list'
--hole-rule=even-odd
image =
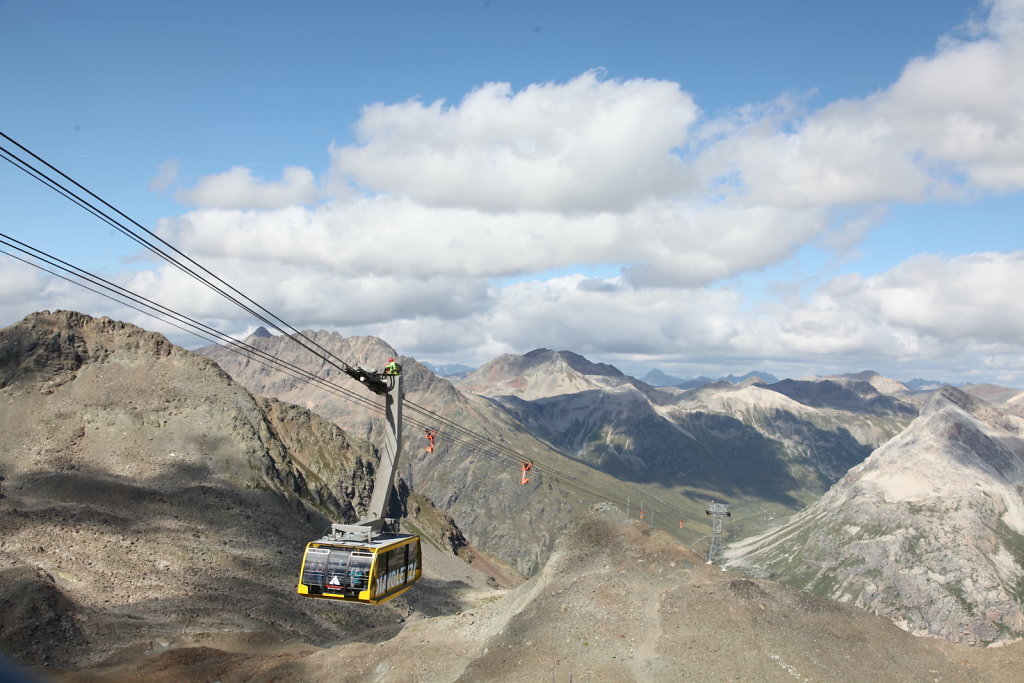
[{"label": "entire rocky mountain landscape below the sky, excluding the cable car", "polygon": [[[287,598],[302,543],[368,500],[379,412],[223,347],[199,355],[122,323],[44,311],[0,331],[4,652],[115,678],[188,677],[187,661],[202,660],[211,680],[313,680],[341,675],[368,639],[381,649],[360,675],[411,672],[458,633],[464,647],[438,680],[526,667],[517,661],[545,678],[582,675],[565,666],[577,661],[592,676],[655,679],[675,668],[868,680],[887,663],[944,680],[1021,671],[1020,647],[989,657],[921,645],[931,641],[862,611],[962,643],[1021,637],[1018,392],[992,403],[869,372],[668,391],[549,349],[453,383],[377,338],[304,334],[359,367],[401,360],[408,453],[394,514],[436,544],[445,573],[377,610]],[[362,390],[287,338],[257,330],[247,342]],[[425,426],[439,428],[433,453]],[[526,485],[510,454],[536,463]],[[680,544],[707,548],[710,500],[731,505],[731,540],[752,537],[728,550],[751,579]],[[455,550],[476,573],[445,564]],[[496,588],[521,581],[513,568],[529,581]],[[602,618],[639,596],[643,614]],[[700,669],[721,629],[757,646]],[[243,632],[272,632],[274,651],[290,654],[269,654],[264,635],[223,636]],[[128,651],[142,664],[118,664]]]}]

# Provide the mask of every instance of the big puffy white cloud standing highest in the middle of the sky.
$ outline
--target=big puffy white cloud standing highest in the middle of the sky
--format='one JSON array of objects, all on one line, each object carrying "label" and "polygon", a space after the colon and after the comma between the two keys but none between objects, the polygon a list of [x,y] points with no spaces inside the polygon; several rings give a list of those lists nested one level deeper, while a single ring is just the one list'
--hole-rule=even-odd
[{"label": "big puffy white cloud standing highest in the middle of the sky", "polygon": [[692,189],[677,151],[698,114],[668,81],[488,83],[455,105],[368,106],[358,144],[332,150],[333,167],[427,206],[622,211]]}]

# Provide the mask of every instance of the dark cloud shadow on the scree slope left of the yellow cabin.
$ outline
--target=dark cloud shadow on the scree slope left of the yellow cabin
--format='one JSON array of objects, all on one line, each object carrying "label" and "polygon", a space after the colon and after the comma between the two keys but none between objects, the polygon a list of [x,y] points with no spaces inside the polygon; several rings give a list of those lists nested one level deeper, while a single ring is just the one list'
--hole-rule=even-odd
[{"label": "dark cloud shadow on the scree slope left of the yellow cabin", "polygon": [[[210,478],[181,485],[204,471],[172,466],[142,484],[86,468],[31,473],[0,503],[4,552],[76,605],[54,610],[78,625],[89,656],[197,630],[271,629],[327,644],[397,623],[393,609],[298,596],[304,545],[329,522],[269,490]],[[43,663],[38,648],[6,637],[2,649]]]}]

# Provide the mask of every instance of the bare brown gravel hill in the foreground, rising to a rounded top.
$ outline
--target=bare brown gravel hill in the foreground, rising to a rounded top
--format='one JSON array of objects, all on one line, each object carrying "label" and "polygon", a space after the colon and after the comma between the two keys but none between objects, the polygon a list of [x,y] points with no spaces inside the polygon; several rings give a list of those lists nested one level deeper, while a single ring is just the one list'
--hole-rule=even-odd
[{"label": "bare brown gravel hill in the foreground, rising to a rounded top", "polygon": [[221,638],[59,680],[977,683],[1022,671],[1022,644],[918,638],[855,607],[722,571],[605,508],[574,523],[514,591],[457,614],[412,616],[377,643],[254,651]]}]

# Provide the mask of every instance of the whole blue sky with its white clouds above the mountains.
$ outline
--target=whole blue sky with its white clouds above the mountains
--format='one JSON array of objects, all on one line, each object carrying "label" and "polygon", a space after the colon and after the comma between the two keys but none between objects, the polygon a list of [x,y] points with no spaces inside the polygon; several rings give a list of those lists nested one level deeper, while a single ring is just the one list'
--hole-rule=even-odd
[{"label": "whole blue sky with its white clouds above the mountains", "polygon": [[[0,130],[296,326],[421,359],[1024,388],[1022,26],[1019,0],[0,0]],[[0,223],[252,327],[7,164]],[[170,332],[2,256],[0,294],[3,325]]]}]

